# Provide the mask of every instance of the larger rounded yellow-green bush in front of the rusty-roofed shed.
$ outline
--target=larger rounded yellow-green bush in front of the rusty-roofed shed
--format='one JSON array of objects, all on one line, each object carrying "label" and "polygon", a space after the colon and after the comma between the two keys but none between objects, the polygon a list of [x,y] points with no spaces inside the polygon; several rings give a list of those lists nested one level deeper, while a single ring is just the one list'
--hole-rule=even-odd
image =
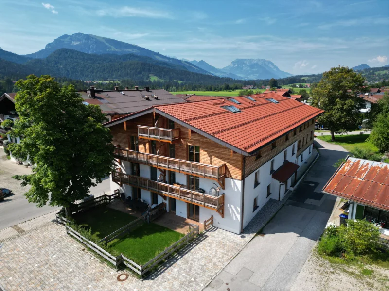
[{"label": "larger rounded yellow-green bush in front of the rusty-roofed shed", "polygon": [[354,254],[376,251],[380,232],[377,226],[367,220],[347,220],[337,231],[341,250]]}]

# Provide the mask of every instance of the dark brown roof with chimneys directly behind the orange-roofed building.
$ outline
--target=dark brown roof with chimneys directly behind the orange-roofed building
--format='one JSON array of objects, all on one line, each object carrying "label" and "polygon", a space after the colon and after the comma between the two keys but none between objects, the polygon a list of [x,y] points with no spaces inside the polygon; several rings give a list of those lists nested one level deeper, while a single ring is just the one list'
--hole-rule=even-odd
[{"label": "dark brown roof with chimneys directly behind the orange-roofed building", "polygon": [[84,104],[99,105],[108,120],[113,120],[154,105],[185,102],[180,97],[166,90],[150,90],[149,87],[139,89],[138,86],[135,89],[126,87],[123,90],[117,86],[114,87],[114,90],[101,90],[96,89],[95,86],[90,86],[89,89],[78,90],[78,93],[84,98]]}]

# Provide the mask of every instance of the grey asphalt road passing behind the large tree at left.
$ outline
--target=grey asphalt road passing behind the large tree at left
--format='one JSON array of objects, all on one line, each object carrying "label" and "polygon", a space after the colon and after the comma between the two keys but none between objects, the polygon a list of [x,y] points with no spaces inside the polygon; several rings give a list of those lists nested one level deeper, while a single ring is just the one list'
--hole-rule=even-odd
[{"label": "grey asphalt road passing behind the large tree at left", "polygon": [[[34,203],[29,203],[26,197],[23,196],[29,190],[29,186],[20,186],[20,182],[13,179],[12,176],[29,174],[30,172],[29,168],[7,160],[3,149],[0,147],[0,187],[11,189],[13,192],[12,195],[5,197],[4,201],[0,202],[0,230],[59,210],[59,207],[49,205],[36,207]],[[106,177],[102,183],[91,188],[90,194],[98,196],[109,191],[109,177]]]}]

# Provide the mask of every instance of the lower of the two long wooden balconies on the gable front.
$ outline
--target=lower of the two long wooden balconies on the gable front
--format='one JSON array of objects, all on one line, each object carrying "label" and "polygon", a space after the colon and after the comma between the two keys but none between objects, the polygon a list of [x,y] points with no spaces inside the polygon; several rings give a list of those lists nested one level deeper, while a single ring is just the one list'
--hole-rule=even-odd
[{"label": "lower of the two long wooden balconies on the gable front", "polygon": [[120,185],[127,184],[160,194],[164,197],[172,197],[184,202],[209,208],[217,211],[222,217],[224,217],[224,194],[215,197],[166,183],[153,181],[148,178],[125,174],[120,172],[118,169],[112,172],[112,181]]}]

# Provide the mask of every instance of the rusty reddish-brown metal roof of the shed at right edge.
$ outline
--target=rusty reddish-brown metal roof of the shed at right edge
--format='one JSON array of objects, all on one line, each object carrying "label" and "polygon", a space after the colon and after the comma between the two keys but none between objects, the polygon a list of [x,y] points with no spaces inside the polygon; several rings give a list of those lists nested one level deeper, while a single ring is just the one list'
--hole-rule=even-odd
[{"label": "rusty reddish-brown metal roof of the shed at right edge", "polygon": [[389,164],[347,157],[323,191],[389,210]]}]

